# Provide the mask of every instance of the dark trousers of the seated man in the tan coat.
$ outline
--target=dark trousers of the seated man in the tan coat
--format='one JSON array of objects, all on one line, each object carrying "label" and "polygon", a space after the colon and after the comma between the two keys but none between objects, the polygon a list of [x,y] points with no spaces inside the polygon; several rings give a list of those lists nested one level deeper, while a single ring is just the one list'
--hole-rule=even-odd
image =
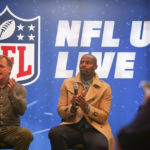
[{"label": "dark trousers of the seated man in the tan coat", "polygon": [[48,136],[52,150],[67,150],[76,144],[84,144],[87,150],[108,150],[106,137],[93,127],[85,129],[59,125],[51,128]]}]

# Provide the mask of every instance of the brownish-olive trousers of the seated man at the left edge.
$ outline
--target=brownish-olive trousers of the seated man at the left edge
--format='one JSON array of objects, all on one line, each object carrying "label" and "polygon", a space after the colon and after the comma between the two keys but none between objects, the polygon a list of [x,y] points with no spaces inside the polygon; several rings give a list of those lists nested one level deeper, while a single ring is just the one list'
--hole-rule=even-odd
[{"label": "brownish-olive trousers of the seated man at the left edge", "polygon": [[14,150],[28,150],[33,136],[23,127],[0,127],[0,142],[8,144]]}]

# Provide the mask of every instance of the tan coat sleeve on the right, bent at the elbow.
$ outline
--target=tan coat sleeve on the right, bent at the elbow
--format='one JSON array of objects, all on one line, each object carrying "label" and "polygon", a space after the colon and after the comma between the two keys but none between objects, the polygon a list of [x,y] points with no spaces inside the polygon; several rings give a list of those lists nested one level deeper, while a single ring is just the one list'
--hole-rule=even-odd
[{"label": "tan coat sleeve on the right, bent at the elbow", "polygon": [[111,106],[111,88],[109,85],[98,101],[99,104],[97,107],[90,105],[88,117],[100,124],[104,124],[108,120]]}]

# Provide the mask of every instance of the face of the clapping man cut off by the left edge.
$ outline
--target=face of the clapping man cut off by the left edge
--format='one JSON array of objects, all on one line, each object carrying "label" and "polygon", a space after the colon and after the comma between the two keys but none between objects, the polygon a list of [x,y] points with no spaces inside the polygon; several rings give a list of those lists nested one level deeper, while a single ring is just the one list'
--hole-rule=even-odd
[{"label": "face of the clapping man cut off by the left edge", "polygon": [[5,58],[0,59],[0,80],[7,80],[11,73],[11,67],[8,66]]}]

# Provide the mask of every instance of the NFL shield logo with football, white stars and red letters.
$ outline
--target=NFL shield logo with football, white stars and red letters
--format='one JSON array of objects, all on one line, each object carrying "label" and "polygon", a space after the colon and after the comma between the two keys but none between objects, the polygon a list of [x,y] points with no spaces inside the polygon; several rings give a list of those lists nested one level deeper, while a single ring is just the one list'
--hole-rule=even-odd
[{"label": "NFL shield logo with football, white stars and red letters", "polygon": [[11,77],[24,85],[35,82],[40,73],[40,16],[19,18],[6,7],[0,13],[0,54],[12,59]]}]

